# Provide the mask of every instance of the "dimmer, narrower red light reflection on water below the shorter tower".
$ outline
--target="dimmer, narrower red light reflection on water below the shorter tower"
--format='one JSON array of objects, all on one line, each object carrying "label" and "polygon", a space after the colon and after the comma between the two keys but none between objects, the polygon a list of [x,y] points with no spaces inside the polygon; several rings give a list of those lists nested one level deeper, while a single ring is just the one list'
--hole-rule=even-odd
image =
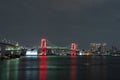
[{"label": "dimmer, narrower red light reflection on water below the shorter tower", "polygon": [[76,80],[76,56],[71,56],[70,80]]}]

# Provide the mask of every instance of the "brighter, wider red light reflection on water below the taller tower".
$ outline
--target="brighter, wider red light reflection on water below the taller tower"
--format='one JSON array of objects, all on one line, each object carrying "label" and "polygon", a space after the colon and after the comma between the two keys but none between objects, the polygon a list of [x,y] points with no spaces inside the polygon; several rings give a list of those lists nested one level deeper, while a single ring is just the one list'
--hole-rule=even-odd
[{"label": "brighter, wider red light reflection on water below the taller tower", "polygon": [[47,56],[40,56],[39,79],[47,80]]}]

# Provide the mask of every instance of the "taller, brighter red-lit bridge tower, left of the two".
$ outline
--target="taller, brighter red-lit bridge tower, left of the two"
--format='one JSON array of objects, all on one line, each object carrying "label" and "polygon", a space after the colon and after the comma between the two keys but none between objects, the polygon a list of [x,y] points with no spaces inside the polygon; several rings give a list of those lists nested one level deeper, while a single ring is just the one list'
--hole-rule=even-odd
[{"label": "taller, brighter red-lit bridge tower, left of the two", "polygon": [[40,42],[40,55],[46,56],[46,52],[47,52],[47,40],[45,38],[42,38]]}]

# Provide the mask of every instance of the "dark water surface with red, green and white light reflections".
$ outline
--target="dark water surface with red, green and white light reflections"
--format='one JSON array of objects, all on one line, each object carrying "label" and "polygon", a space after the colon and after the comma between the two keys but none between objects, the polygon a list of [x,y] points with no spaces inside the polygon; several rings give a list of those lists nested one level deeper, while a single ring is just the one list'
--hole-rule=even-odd
[{"label": "dark water surface with red, green and white light reflections", "polygon": [[3,60],[0,80],[120,80],[120,57],[26,56]]}]

